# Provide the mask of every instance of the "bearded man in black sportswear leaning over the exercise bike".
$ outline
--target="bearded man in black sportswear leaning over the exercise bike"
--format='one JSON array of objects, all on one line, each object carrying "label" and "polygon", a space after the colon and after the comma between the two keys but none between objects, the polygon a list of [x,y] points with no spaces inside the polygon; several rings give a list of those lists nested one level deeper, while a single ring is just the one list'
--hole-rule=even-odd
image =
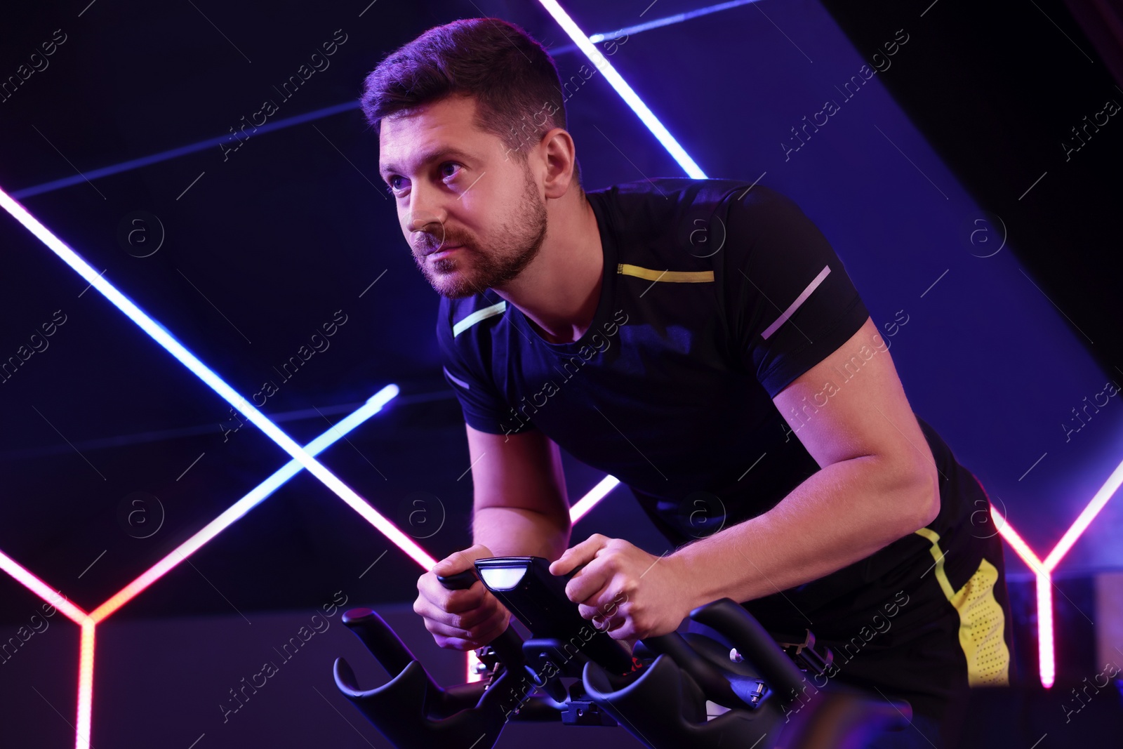
[{"label": "bearded man in black sportswear leaning over the exercise bike", "polygon": [[[928,746],[955,689],[1008,678],[1001,540],[970,521],[989,520],[982,486],[913,414],[795,203],[725,180],[586,194],[560,89],[499,19],[432,28],[366,79],[473,466],[475,546],[420,577],[414,611],[441,647],[490,642],[510,614],[436,574],[503,555],[585,564],[567,595],[628,642],[728,596],[832,648],[809,694],[837,677],[904,696]],[[621,478],[676,548],[569,547],[559,446]]]}]

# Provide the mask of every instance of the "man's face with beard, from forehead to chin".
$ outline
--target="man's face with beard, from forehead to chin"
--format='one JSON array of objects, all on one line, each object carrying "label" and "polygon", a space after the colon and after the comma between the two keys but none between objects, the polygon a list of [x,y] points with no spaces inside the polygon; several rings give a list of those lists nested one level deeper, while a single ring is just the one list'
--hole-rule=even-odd
[{"label": "man's face with beard, from forehead to chin", "polygon": [[413,259],[445,296],[502,287],[538,254],[546,201],[529,166],[449,97],[382,121],[378,171]]}]

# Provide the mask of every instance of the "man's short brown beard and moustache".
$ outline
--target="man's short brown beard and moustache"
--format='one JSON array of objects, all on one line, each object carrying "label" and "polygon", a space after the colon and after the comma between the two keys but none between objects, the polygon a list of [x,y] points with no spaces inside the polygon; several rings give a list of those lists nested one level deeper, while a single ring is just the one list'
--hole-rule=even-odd
[{"label": "man's short brown beard and moustache", "polygon": [[444,247],[460,246],[462,257],[437,261],[419,257],[414,250],[413,261],[437,293],[458,299],[482,294],[485,289],[502,287],[538,256],[546,239],[546,203],[538,194],[529,168],[526,177],[521,201],[526,212],[517,214],[513,225],[504,223],[500,228],[491,249],[484,250],[467,236],[447,234],[441,238],[432,232],[423,236],[420,247],[424,249],[437,243]]}]

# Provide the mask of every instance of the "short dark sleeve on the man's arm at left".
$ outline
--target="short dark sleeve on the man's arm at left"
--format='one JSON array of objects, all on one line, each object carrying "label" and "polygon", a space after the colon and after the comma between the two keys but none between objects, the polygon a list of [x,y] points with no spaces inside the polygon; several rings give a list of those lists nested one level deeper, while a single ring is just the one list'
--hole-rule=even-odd
[{"label": "short dark sleeve on the man's arm at left", "polygon": [[[513,435],[529,427],[518,420],[511,407],[496,390],[486,363],[491,358],[489,346],[482,347],[477,331],[453,334],[457,308],[441,298],[437,314],[437,344],[440,348],[445,380],[456,393],[464,412],[464,421],[478,431],[492,435]],[[475,334],[475,335],[473,335]],[[522,426],[527,424],[527,426]]]}]

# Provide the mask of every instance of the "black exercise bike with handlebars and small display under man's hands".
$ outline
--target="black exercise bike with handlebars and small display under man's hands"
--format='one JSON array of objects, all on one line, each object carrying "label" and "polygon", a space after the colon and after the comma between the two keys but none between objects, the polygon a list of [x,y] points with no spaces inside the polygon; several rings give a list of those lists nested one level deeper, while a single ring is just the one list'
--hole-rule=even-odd
[{"label": "black exercise bike with handlebars and small display under man's hands", "polygon": [[551,575],[541,557],[493,557],[438,577],[460,590],[478,576],[531,633],[523,640],[508,627],[476,651],[482,681],[450,687],[436,684],[377,613],[349,610],[344,624],[393,678],[360,689],[337,658],[336,686],[398,749],[492,749],[509,721],[621,725],[651,749],[860,749],[912,718],[905,701],[836,684],[812,687],[809,677],[827,670],[830,650],[816,647],[810,631],[774,638],[729,599],[690,619],[732,648],[672,632],[629,652],[566,597],[576,572]]}]

